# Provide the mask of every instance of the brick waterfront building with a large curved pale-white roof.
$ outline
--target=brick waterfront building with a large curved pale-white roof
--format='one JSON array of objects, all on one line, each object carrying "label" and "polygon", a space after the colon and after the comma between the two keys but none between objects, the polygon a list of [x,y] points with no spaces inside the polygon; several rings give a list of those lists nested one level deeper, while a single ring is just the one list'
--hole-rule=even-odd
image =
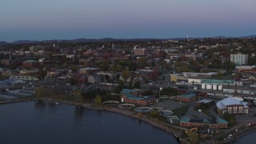
[{"label": "brick waterfront building with a large curved pale-white roof", "polygon": [[248,114],[249,107],[242,98],[225,98],[216,103],[218,114]]}]

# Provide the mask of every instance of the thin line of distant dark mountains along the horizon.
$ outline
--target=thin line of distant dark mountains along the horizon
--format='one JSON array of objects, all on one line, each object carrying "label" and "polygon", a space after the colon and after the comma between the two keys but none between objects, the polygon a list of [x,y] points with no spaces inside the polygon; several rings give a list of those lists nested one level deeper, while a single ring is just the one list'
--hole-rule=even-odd
[{"label": "thin line of distant dark mountains along the horizon", "polygon": [[[225,37],[225,36],[216,36],[216,37],[209,37],[209,38],[256,38],[256,35],[248,35],[242,37]],[[42,40],[42,41],[31,41],[31,40],[19,40],[14,42],[0,42],[1,45],[7,44],[26,44],[26,43],[40,43],[40,42],[122,42],[122,41],[150,41],[150,40],[166,40],[166,39],[173,39],[173,40],[182,40],[186,38],[77,38],[73,40],[65,40],[65,39],[53,39],[53,40]],[[190,38],[194,39],[194,38]]]}]

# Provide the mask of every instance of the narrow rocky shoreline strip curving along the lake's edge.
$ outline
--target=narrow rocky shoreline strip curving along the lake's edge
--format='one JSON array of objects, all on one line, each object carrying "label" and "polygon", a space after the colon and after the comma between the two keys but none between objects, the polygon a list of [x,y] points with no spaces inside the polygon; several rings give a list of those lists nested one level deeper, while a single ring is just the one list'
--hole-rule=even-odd
[{"label": "narrow rocky shoreline strip curving along the lake's edge", "polygon": [[[24,99],[18,99],[18,100],[14,100],[14,101],[6,101],[6,102],[0,102],[1,104],[7,104],[7,103],[16,103],[16,102],[33,102],[33,101],[37,101],[37,100],[42,100],[42,101],[46,101],[46,102],[58,102],[58,103],[65,103],[68,105],[73,105],[73,106],[82,106],[85,107],[87,109],[91,109],[91,110],[106,110],[106,111],[110,111],[110,112],[114,112],[117,114],[122,114],[122,115],[126,115],[129,116],[130,118],[136,118],[142,122],[146,122],[148,124],[150,124],[151,126],[157,127],[160,130],[164,130],[167,133],[170,133],[174,136],[174,138],[180,142],[180,143],[187,143],[187,139],[186,138],[181,138],[181,135],[179,134],[179,132],[177,132],[177,130],[174,129],[178,129],[178,130],[188,130],[187,128],[183,128],[180,126],[172,126],[166,122],[162,122],[159,121],[157,118],[150,118],[148,116],[146,116],[145,114],[139,114],[137,112],[134,111],[130,111],[130,110],[123,110],[123,109],[119,109],[117,107],[113,107],[113,106],[97,106],[94,104],[89,104],[89,103],[78,103],[78,102],[69,102],[69,101],[62,101],[62,100],[54,100],[51,98],[24,98]],[[256,127],[247,127],[247,130],[242,131],[241,134],[239,133],[236,137],[230,138],[230,139],[226,139],[226,142],[238,142],[239,138],[242,138],[244,136],[246,136],[247,134],[253,133],[256,131]],[[205,142],[205,141],[198,141],[198,143],[200,142]],[[216,142],[213,140],[208,140],[208,142]],[[220,141],[218,143],[222,143],[224,141]]]}]

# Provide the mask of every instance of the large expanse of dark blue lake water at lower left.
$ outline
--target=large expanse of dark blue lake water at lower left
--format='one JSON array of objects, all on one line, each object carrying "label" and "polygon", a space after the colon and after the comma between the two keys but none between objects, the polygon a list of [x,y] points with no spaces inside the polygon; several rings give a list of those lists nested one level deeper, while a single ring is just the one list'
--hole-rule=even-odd
[{"label": "large expanse of dark blue lake water at lower left", "polygon": [[122,114],[49,102],[0,105],[3,144],[170,144],[172,134]]}]

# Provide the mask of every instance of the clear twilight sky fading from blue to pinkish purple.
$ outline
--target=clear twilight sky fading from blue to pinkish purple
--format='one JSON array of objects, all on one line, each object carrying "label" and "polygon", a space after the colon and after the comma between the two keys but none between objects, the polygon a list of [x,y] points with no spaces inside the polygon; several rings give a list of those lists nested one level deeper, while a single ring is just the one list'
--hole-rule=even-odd
[{"label": "clear twilight sky fading from blue to pinkish purple", "polygon": [[256,34],[256,0],[1,0],[0,41]]}]

